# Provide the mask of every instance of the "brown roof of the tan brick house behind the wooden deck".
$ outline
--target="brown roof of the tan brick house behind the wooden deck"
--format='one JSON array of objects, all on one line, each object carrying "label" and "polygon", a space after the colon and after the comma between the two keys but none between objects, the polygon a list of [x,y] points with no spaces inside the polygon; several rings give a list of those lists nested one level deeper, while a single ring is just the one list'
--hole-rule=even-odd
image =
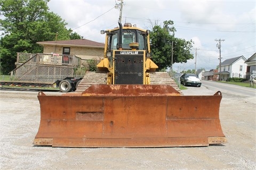
[{"label": "brown roof of the tan brick house behind the wooden deck", "polygon": [[99,47],[104,48],[104,43],[98,43],[91,41],[89,39],[69,39],[62,41],[47,41],[47,42],[37,42],[40,45],[60,45],[60,46],[80,46],[80,47]]}]

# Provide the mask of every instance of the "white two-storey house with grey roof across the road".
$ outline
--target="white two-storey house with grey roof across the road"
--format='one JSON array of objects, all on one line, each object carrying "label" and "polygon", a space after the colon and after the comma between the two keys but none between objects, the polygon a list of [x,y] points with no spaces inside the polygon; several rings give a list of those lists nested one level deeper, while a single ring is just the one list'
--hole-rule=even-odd
[{"label": "white two-storey house with grey roof across the road", "polygon": [[236,58],[227,59],[221,62],[221,68],[219,68],[218,75],[221,80],[227,80],[229,77],[246,77],[246,59],[244,56],[237,56]]}]

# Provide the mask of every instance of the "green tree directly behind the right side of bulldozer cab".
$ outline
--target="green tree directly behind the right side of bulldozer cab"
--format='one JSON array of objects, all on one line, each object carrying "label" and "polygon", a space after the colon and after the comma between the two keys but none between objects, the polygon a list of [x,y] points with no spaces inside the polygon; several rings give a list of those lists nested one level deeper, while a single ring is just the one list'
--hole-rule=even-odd
[{"label": "green tree directly behind the right side of bulldozer cab", "polygon": [[193,59],[193,54],[190,53],[193,41],[175,38],[176,29],[173,27],[173,21],[164,21],[163,24],[163,27],[153,26],[150,34],[152,59],[157,64],[158,70],[171,67],[172,49],[173,63],[187,62],[187,60]]}]

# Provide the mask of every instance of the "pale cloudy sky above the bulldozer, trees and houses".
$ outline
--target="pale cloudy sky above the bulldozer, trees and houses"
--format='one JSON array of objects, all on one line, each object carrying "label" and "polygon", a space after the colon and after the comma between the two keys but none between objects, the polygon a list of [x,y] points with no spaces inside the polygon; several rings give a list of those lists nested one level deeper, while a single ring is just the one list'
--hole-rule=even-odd
[{"label": "pale cloudy sky above the bulldozer, trees and houses", "polygon": [[[103,43],[105,35],[100,30],[118,27],[120,3],[51,0],[48,6],[68,23],[68,29],[85,39]],[[123,0],[122,23],[151,29],[150,21],[163,26],[166,20],[174,22],[175,37],[194,42],[191,49],[194,59],[174,63],[174,71],[216,69],[220,62],[219,44],[221,62],[242,55],[248,59],[256,52],[255,0]]]}]

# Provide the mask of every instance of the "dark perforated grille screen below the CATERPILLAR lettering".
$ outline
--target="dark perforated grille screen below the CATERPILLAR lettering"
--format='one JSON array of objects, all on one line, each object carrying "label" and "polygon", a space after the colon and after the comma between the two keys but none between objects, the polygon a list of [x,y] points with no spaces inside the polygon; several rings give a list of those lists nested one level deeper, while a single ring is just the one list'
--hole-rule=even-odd
[{"label": "dark perforated grille screen below the CATERPILLAR lettering", "polygon": [[143,84],[143,55],[115,55],[115,84]]}]

